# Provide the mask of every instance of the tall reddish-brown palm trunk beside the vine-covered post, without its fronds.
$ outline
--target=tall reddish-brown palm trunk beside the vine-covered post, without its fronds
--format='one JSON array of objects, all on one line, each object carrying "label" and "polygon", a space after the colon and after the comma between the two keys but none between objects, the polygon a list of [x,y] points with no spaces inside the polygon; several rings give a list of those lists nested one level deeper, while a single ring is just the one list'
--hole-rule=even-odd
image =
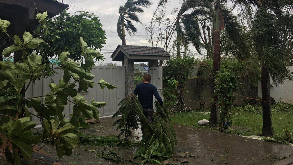
[{"label": "tall reddish-brown palm trunk beside the vine-covered post, without its fronds", "polygon": [[[215,75],[220,70],[220,0],[216,0],[216,9],[215,9],[215,30],[214,30],[214,50],[213,50],[213,79],[215,80]],[[214,81],[215,82],[215,81]],[[215,83],[212,84],[212,93],[215,90]],[[213,102],[211,107],[210,114],[210,124],[217,124],[218,121],[218,96],[212,94]]]}]

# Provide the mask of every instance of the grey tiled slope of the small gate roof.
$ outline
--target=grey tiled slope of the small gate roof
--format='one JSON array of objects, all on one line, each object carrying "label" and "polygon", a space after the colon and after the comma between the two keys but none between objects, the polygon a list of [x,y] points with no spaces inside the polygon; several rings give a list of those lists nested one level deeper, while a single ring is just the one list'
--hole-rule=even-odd
[{"label": "grey tiled slope of the small gate roof", "polygon": [[171,56],[161,47],[137,46],[137,45],[119,45],[129,55],[149,55],[149,56]]}]

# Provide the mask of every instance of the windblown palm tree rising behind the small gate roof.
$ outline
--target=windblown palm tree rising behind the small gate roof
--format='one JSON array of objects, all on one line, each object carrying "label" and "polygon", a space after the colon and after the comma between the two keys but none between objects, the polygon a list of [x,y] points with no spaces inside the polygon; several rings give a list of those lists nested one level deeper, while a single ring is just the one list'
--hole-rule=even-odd
[{"label": "windblown palm tree rising behind the small gate roof", "polygon": [[117,23],[117,33],[122,40],[122,45],[126,45],[125,29],[129,35],[137,32],[133,22],[141,23],[137,13],[143,13],[143,7],[149,7],[152,4],[149,0],[127,0],[124,6],[119,7],[119,19]]}]

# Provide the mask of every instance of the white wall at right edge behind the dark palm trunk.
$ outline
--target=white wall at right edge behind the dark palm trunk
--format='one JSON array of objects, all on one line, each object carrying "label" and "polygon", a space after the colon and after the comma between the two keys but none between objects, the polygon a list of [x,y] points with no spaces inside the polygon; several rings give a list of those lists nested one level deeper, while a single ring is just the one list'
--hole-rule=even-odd
[{"label": "white wall at right edge behind the dark palm trunk", "polygon": [[[293,66],[288,67],[291,72],[293,72]],[[270,79],[270,96],[273,97],[276,102],[279,102],[279,98],[286,103],[293,104],[293,81],[285,81],[284,84],[278,84],[277,86]],[[261,82],[258,81],[258,97],[261,98]]]}]

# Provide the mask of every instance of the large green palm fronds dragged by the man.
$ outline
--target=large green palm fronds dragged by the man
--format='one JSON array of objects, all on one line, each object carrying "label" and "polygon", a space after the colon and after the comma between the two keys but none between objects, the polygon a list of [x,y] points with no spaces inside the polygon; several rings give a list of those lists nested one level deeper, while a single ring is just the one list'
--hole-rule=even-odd
[{"label": "large green palm fronds dragged by the man", "polygon": [[159,160],[173,157],[174,147],[177,145],[176,133],[166,109],[159,102],[155,101],[157,112],[153,115],[154,121],[151,124],[143,115],[136,95],[125,97],[118,106],[120,108],[113,118],[122,115],[114,124],[118,124],[116,130],[120,130],[119,139],[123,143],[130,143],[130,138],[133,137],[131,130],[137,129],[139,124],[145,127],[145,136],[139,143],[134,158],[142,158],[142,164],[147,161],[161,164]]}]

